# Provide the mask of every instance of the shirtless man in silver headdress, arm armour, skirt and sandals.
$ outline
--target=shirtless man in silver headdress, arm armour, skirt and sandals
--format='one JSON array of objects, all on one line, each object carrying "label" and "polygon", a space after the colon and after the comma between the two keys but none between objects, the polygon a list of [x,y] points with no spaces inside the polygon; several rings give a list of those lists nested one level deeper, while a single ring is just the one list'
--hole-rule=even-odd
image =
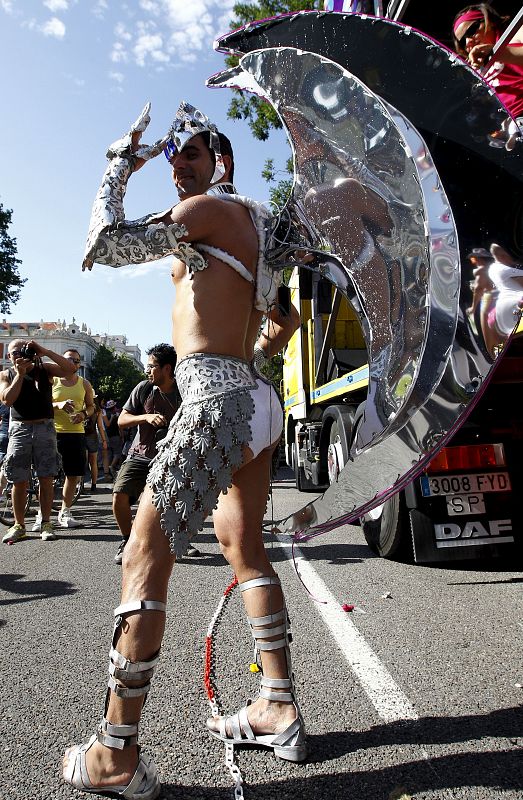
[{"label": "shirtless man in silver headdress, arm armour, skirt and sandals", "polygon": [[[268,747],[291,761],[306,757],[287,612],[261,531],[282,413],[274,390],[249,363],[263,315],[274,326],[270,335],[266,326],[258,349],[270,355],[297,327],[296,313],[286,319],[278,309],[276,282],[263,256],[267,213],[236,194],[228,140],[182,103],[168,140],[140,145],[148,110],[108,152],[84,267],[174,255],[173,345],[183,402],[152,463],[125,549],[102,722],[64,757],[64,778],[77,789],[135,800],[160,792],[154,763],[137,739],[165,628],[168,581],[176,554],[213,508],[221,550],[240,583],[262,679],[248,708],[207,725],[223,741]],[[126,223],[128,177],[164,149],[179,204]]]}]

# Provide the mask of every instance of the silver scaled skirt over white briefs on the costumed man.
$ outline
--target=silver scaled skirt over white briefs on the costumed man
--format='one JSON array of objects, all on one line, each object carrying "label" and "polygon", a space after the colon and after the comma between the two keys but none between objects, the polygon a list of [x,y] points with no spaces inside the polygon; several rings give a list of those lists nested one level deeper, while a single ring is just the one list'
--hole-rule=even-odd
[{"label": "silver scaled skirt over white briefs on the costumed man", "polygon": [[178,362],[176,381],[182,404],[147,483],[171,552],[180,556],[231,486],[244,447],[257,455],[278,441],[282,411],[273,387],[238,358],[195,353]]}]

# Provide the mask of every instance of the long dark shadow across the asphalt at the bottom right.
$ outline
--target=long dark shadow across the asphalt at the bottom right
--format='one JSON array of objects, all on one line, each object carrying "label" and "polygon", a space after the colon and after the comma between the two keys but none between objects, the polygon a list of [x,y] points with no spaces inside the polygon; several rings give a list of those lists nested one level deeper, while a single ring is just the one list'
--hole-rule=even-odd
[{"label": "long dark shadow across the asphalt at the bottom right", "polygon": [[[310,736],[310,756],[303,764],[292,766],[295,777],[288,774],[281,780],[249,785],[249,763],[240,750],[240,769],[247,797],[256,800],[291,800],[291,798],[354,798],[354,800],[388,800],[398,787],[408,796],[421,792],[457,791],[473,787],[486,789],[492,798],[500,791],[521,789],[521,709],[507,708],[490,714],[465,717],[426,717],[415,722],[378,725],[369,731],[331,732]],[[485,738],[501,739],[503,749],[485,751]],[[481,751],[469,750],[429,756],[424,745],[478,741]],[[504,740],[504,741],[503,741]],[[421,757],[384,765],[380,769],[358,769],[362,759],[358,751],[384,750],[388,745],[418,746]],[[399,750],[401,753],[401,750]],[[414,751],[415,752],[415,751]],[[313,774],[311,769],[347,755],[354,756],[348,771]],[[256,757],[256,756],[255,756]],[[251,762],[252,763],[252,762]],[[300,775],[299,773],[302,773]],[[252,773],[251,773],[252,774]],[[202,786],[180,786],[164,783],[161,797],[165,800],[229,800],[231,789]],[[472,795],[467,795],[471,796]],[[484,795],[482,794],[482,797]]]}]

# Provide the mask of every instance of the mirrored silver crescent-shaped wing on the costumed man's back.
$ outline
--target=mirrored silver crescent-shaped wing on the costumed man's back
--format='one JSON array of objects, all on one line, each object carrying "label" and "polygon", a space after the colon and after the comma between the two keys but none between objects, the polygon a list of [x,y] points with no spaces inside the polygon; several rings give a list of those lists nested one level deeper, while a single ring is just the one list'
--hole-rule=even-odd
[{"label": "mirrored silver crescent-shaped wing on the costumed man's back", "polygon": [[252,51],[209,84],[254,91],[277,109],[295,160],[289,216],[313,254],[304,267],[353,301],[367,340],[369,395],[351,461],[287,520],[305,538],[410,482],[463,420],[491,361],[459,307],[459,242],[442,181],[400,111],[340,64],[292,47]]}]

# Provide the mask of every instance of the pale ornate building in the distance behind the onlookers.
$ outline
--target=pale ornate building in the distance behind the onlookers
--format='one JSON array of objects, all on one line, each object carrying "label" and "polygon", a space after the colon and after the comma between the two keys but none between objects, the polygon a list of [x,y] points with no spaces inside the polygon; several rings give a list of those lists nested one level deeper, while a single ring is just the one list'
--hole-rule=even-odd
[{"label": "pale ornate building in the distance behind the onlookers", "polygon": [[93,335],[85,323],[78,325],[74,317],[70,323],[67,323],[65,319],[61,322],[44,322],[43,319],[40,322],[7,322],[4,319],[0,323],[1,369],[10,366],[7,347],[13,339],[34,339],[42,347],[60,354],[71,347],[78,350],[82,359],[80,374],[88,380],[91,377],[93,358],[101,344],[110,347],[116,353],[125,353],[137,369],[143,370],[138,345],[127,344],[127,337],[123,335]]}]

